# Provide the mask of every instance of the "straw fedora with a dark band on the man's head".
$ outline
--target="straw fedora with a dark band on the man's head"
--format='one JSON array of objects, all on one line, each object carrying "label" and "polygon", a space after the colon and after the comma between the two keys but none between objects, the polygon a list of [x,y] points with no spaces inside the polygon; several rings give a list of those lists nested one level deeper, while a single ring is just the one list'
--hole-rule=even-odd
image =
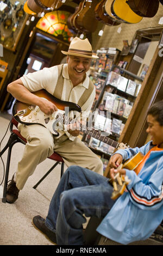
[{"label": "straw fedora with a dark band on the man's head", "polygon": [[65,52],[65,51],[61,51],[61,52],[66,55],[74,55],[74,56],[93,58],[93,59],[98,58],[98,56],[92,54],[92,46],[87,38],[84,40],[77,37],[74,38],[70,43],[68,52]]}]

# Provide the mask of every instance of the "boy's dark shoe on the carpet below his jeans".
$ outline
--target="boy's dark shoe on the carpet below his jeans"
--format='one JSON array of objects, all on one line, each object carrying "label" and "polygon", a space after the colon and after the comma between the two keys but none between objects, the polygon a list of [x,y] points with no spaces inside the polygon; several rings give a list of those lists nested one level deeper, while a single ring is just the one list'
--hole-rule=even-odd
[{"label": "boy's dark shoe on the carpet below his jeans", "polygon": [[45,219],[42,218],[40,215],[37,215],[33,218],[33,224],[36,229],[41,231],[44,235],[48,237],[49,240],[51,240],[55,245],[57,245],[57,238],[55,233],[48,229],[45,225]]}]

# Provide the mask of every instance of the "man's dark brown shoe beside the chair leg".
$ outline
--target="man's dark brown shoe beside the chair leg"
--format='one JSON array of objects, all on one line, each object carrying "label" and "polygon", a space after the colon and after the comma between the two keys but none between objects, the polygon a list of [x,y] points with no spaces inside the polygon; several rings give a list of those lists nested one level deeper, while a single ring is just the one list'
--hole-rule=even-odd
[{"label": "man's dark brown shoe beside the chair leg", "polygon": [[12,176],[11,182],[8,185],[7,188],[7,194],[6,194],[6,202],[9,204],[14,203],[18,198],[18,188],[16,187],[16,182],[14,181],[14,175]]}]

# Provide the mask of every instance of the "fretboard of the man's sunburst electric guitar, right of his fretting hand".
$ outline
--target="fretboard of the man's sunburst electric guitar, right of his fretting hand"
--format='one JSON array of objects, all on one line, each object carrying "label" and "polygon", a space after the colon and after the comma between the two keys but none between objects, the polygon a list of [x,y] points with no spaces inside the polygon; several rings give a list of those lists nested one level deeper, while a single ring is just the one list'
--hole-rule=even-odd
[{"label": "fretboard of the man's sunburst electric guitar, right of his fretting hand", "polygon": [[98,139],[101,142],[104,142],[105,144],[110,145],[111,147],[118,148],[118,142],[114,141],[113,139],[110,139],[106,136],[101,135],[98,131],[90,130],[89,128],[80,127],[80,131],[86,133],[87,135],[90,135],[91,137]]}]

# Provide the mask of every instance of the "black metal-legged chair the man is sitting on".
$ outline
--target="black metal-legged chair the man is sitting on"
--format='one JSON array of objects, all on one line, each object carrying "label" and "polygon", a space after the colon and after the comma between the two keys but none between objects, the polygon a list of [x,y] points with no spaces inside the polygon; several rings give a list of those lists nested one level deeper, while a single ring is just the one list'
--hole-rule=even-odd
[{"label": "black metal-legged chair the man is sitting on", "polygon": [[[26,145],[26,143],[27,143],[26,139],[23,136],[21,136],[20,132],[17,129],[13,129],[14,125],[17,127],[18,122],[14,118],[12,118],[11,124],[10,124],[11,135],[9,137],[9,140],[8,140],[7,144],[5,145],[3,150],[0,152],[0,157],[1,157],[3,155],[3,153],[8,149],[8,157],[7,157],[7,164],[6,164],[6,169],[5,169],[5,178],[4,178],[3,198],[2,198],[2,202],[3,203],[6,203],[6,195],[7,195],[7,186],[8,186],[8,177],[9,177],[9,168],[10,168],[10,159],[11,159],[12,147],[17,142],[21,142],[24,145]],[[54,152],[51,156],[48,157],[48,159],[54,160],[56,162],[52,166],[52,168],[49,169],[48,172],[37,182],[37,184],[34,185],[33,188],[36,188],[42,182],[42,180],[44,180],[46,178],[46,176],[49,173],[51,173],[52,170],[59,163],[61,163],[61,175],[60,175],[60,178],[64,174],[64,160],[62,159],[62,157],[59,154]]]}]

